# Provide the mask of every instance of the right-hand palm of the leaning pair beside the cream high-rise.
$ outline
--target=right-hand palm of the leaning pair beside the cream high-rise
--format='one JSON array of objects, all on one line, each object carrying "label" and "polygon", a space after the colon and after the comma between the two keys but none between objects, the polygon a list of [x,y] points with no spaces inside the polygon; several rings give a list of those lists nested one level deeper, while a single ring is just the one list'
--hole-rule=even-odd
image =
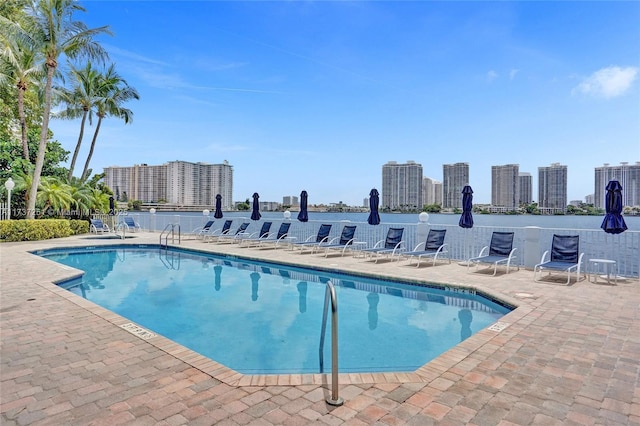
[{"label": "right-hand palm of the leaning pair beside the cream high-rise", "polygon": [[99,94],[99,100],[96,105],[98,124],[96,124],[96,130],[93,133],[93,139],[91,140],[91,148],[89,149],[87,161],[84,164],[84,170],[82,171],[82,177],[80,178],[83,181],[89,177],[89,163],[93,156],[93,149],[96,146],[96,140],[98,139],[102,119],[107,116],[113,116],[123,119],[125,124],[128,124],[133,119],[133,111],[124,108],[122,104],[131,99],[140,99],[140,95],[138,95],[136,89],[129,86],[127,82],[115,71],[115,66],[113,64],[109,66],[105,75],[100,79],[100,87],[97,92]]}]

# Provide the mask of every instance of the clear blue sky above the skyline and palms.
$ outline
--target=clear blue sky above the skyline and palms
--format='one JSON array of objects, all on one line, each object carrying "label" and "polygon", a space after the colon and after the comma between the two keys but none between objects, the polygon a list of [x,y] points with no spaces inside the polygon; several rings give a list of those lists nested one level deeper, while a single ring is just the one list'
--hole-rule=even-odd
[{"label": "clear blue sky above the skyline and palms", "polygon": [[[388,161],[491,166],[640,161],[640,2],[85,1],[77,19],[140,93],[103,121],[92,167],[234,167],[234,199],[361,205]],[[79,122],[55,120],[73,151]],[[92,134],[90,129],[89,135]],[[90,144],[85,136],[80,166]],[[79,172],[78,172],[79,173]]]}]

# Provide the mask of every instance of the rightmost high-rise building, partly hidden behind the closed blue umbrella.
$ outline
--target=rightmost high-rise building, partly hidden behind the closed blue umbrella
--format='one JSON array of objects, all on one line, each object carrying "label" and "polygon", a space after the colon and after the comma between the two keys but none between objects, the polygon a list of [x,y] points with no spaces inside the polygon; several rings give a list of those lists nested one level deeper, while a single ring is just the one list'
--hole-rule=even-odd
[{"label": "rightmost high-rise building, partly hidden behind the closed blue umbrella", "polygon": [[610,180],[617,180],[622,185],[622,205],[640,206],[640,162],[636,164],[620,163],[610,166],[605,163],[595,170],[594,207],[606,208],[607,184]]}]

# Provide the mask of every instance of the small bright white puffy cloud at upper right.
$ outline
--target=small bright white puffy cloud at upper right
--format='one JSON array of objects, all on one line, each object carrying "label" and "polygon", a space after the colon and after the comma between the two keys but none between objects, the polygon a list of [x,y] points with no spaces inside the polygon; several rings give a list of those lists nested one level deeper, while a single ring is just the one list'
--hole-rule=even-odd
[{"label": "small bright white puffy cloud at upper right", "polygon": [[582,93],[600,98],[615,98],[624,95],[638,75],[638,68],[611,66],[602,68],[585,78],[573,93]]}]

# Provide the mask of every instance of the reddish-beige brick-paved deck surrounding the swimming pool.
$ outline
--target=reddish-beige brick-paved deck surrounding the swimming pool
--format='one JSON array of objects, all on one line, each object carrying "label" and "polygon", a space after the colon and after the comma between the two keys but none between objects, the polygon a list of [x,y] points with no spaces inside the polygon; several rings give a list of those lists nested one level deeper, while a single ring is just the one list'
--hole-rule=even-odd
[{"label": "reddish-beige brick-paved deck surrounding the swimming pool", "polygon": [[[158,234],[124,240],[156,244]],[[28,251],[118,244],[95,236],[0,244],[0,424],[640,425],[640,281],[534,282],[183,240],[180,247],[473,287],[518,305],[416,372],[244,376],[59,289],[77,271]],[[308,252],[307,252],[308,253]],[[338,301],[339,304],[339,301]],[[402,348],[398,348],[402,350]]]}]

